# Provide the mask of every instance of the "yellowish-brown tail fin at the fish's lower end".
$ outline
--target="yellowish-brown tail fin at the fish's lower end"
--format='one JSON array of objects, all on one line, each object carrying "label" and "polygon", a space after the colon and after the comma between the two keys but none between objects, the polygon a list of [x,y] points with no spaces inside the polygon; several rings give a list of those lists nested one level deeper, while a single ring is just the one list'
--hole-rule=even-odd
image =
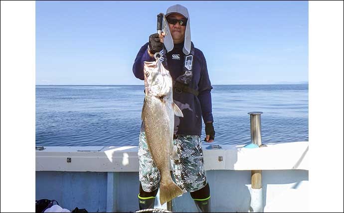
[{"label": "yellowish-brown tail fin at the fish's lower end", "polygon": [[160,182],[160,203],[161,205],[166,202],[172,201],[173,198],[182,195],[183,191],[172,181]]}]

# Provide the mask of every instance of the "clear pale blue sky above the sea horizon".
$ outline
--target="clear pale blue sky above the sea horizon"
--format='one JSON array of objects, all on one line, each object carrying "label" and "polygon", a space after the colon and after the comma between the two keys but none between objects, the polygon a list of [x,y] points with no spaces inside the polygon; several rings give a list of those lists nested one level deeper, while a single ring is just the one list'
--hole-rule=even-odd
[{"label": "clear pale blue sky above the sea horizon", "polygon": [[143,85],[157,14],[181,4],[218,84],[308,82],[308,1],[36,1],[36,85]]}]

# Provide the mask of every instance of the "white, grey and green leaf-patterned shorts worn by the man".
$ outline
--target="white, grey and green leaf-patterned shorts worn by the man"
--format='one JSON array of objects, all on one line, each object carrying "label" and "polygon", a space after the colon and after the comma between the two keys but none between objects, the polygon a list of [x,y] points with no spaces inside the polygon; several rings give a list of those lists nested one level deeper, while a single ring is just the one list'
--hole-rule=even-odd
[{"label": "white, grey and green leaf-patterned shorts worn by the man", "polygon": [[[179,156],[171,159],[175,183],[184,192],[202,189],[207,180],[203,166],[202,142],[196,135],[178,135],[173,139],[173,146]],[[145,132],[140,132],[139,140],[140,182],[145,192],[152,192],[160,186],[160,172],[148,149]]]}]

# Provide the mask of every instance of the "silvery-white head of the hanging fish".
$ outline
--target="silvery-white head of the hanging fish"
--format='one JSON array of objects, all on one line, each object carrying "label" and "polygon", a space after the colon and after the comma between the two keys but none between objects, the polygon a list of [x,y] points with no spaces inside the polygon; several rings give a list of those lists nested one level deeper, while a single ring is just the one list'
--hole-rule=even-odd
[{"label": "silvery-white head of the hanging fish", "polygon": [[172,94],[172,77],[160,61],[145,62],[144,76],[146,95],[162,98]]}]

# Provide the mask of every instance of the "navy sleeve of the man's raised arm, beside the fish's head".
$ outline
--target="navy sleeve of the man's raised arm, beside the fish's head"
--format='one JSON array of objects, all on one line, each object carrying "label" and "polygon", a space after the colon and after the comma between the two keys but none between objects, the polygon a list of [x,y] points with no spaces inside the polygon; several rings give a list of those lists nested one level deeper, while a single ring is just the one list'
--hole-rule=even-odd
[{"label": "navy sleeve of the man's raised arm, beside the fish's head", "polygon": [[148,53],[148,42],[141,47],[133,65],[135,77],[141,80],[144,80],[144,61],[154,61],[154,57]]}]

